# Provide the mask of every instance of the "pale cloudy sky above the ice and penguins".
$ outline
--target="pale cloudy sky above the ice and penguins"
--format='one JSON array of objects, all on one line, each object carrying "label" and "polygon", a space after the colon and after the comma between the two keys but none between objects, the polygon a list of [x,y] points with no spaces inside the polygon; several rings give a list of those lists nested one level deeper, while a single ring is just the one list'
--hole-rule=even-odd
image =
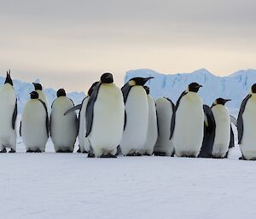
[{"label": "pale cloudy sky above the ice and penguins", "polygon": [[255,0],[0,0],[0,72],[86,91],[103,72],[256,68]]}]

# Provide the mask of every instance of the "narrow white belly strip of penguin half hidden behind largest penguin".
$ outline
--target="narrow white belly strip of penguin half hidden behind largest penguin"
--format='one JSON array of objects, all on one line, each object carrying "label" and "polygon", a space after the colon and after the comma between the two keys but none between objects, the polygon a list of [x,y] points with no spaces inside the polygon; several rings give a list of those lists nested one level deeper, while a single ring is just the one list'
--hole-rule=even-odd
[{"label": "narrow white belly strip of penguin half hidden behind largest penguin", "polygon": [[81,150],[81,153],[84,153],[84,151],[89,151],[90,149],[90,143],[88,138],[85,138],[86,135],[86,118],[85,118],[85,112],[86,112],[86,107],[87,103],[89,101],[89,97],[86,97],[83,101],[81,110],[80,110],[80,118],[79,118],[79,147]]}]

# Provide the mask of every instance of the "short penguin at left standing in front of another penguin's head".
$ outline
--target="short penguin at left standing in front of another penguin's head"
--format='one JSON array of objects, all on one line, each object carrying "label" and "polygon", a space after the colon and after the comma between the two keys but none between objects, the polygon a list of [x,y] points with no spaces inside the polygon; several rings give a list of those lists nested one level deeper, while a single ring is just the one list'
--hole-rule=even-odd
[{"label": "short penguin at left standing in front of another penguin's head", "polygon": [[49,117],[44,101],[39,99],[37,91],[30,93],[31,100],[26,102],[21,116],[20,136],[26,146],[26,152],[41,153],[49,138]]}]

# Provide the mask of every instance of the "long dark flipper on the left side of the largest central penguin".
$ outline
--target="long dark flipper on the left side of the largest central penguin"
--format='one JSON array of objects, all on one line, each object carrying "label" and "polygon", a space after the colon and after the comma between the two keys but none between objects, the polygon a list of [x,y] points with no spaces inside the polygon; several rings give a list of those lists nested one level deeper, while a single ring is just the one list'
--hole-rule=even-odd
[{"label": "long dark flipper on the left side of the largest central penguin", "polygon": [[93,89],[90,99],[88,101],[87,107],[86,107],[86,112],[85,112],[85,118],[86,118],[86,135],[90,135],[91,127],[92,127],[92,122],[93,122],[93,109],[94,109],[94,104],[96,102],[99,89],[101,87],[102,83],[96,84],[95,88]]}]

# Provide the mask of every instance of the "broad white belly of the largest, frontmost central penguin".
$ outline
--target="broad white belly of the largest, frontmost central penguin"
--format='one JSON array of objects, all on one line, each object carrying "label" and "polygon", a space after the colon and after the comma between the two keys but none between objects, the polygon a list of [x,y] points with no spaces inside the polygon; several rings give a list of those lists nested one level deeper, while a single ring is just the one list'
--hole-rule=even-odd
[{"label": "broad white belly of the largest, frontmost central penguin", "polygon": [[122,139],[125,105],[121,90],[114,84],[102,84],[94,104],[89,135],[96,157],[115,155]]}]

